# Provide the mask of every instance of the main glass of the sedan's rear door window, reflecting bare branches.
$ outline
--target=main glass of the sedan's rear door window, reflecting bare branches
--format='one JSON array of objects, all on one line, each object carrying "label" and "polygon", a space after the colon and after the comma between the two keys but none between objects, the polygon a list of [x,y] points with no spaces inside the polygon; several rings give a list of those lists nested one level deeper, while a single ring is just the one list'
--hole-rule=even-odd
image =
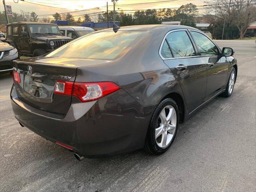
[{"label": "main glass of the sedan's rear door window, reflecting bare branches", "polygon": [[172,54],[177,57],[195,56],[196,52],[186,31],[175,31],[166,37],[170,44]]}]

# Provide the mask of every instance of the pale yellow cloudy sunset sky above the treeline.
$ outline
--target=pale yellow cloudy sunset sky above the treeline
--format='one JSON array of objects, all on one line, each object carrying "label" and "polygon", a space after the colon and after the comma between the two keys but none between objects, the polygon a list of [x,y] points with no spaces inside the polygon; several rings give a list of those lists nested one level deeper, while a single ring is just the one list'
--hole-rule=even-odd
[{"label": "pale yellow cloudy sunset sky above the treeline", "polygon": [[[166,2],[164,2],[166,1]],[[106,3],[108,5],[113,5],[111,0],[5,0],[6,5],[12,6],[12,12],[20,13],[20,10],[24,12],[36,12],[39,18],[48,17],[47,14],[51,15],[55,12],[64,13],[77,10],[87,10],[83,12],[74,12],[71,13],[74,16],[80,14],[90,14],[97,13],[101,11],[106,11]],[[18,3],[15,3],[18,2]],[[157,2],[157,3],[155,3]],[[203,5],[204,1],[202,0],[118,0],[116,3],[116,10],[134,10],[134,9],[148,9],[148,8],[176,8],[183,4],[194,3],[196,5]],[[34,3],[34,4],[33,4]],[[143,5],[126,5],[125,4],[138,4],[138,3],[149,3]],[[151,3],[151,4],[150,4]],[[42,5],[37,5],[42,4]],[[52,7],[50,7],[52,6]],[[55,7],[55,8],[54,8]],[[98,8],[97,8],[98,7]],[[0,0],[0,11],[4,10],[3,2]],[[109,10],[113,10],[113,6],[109,7]],[[77,16],[78,17],[78,16]]]}]

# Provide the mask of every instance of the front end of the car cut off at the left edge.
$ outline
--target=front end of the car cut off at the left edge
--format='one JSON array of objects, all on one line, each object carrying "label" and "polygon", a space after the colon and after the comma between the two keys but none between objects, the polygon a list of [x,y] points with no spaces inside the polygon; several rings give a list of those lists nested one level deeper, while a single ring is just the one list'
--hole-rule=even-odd
[{"label": "front end of the car cut off at the left edge", "polygon": [[18,51],[0,40],[0,73],[12,73],[13,61],[19,59]]}]

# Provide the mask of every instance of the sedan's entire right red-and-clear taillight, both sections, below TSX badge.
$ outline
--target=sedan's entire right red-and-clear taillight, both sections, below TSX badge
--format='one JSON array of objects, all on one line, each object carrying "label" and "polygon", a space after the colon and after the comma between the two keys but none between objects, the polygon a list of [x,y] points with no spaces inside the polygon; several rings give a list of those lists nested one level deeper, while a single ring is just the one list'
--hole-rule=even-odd
[{"label": "sedan's entire right red-and-clear taillight, both sections, below TSX badge", "polygon": [[57,81],[54,88],[55,94],[75,96],[82,102],[94,101],[111,94],[120,87],[113,82],[78,83]]}]

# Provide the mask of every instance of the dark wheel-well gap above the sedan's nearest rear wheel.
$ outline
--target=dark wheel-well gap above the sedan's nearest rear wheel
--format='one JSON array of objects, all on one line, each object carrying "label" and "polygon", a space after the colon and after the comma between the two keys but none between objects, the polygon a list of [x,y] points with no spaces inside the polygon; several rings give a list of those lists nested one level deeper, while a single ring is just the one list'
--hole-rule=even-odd
[{"label": "dark wheel-well gap above the sedan's nearest rear wheel", "polygon": [[185,103],[183,97],[177,92],[172,92],[172,93],[169,93],[168,95],[164,96],[164,98],[162,98],[162,100],[164,100],[166,98],[172,98],[177,103],[178,109],[179,109],[179,121],[184,122],[185,104],[186,103]]}]

